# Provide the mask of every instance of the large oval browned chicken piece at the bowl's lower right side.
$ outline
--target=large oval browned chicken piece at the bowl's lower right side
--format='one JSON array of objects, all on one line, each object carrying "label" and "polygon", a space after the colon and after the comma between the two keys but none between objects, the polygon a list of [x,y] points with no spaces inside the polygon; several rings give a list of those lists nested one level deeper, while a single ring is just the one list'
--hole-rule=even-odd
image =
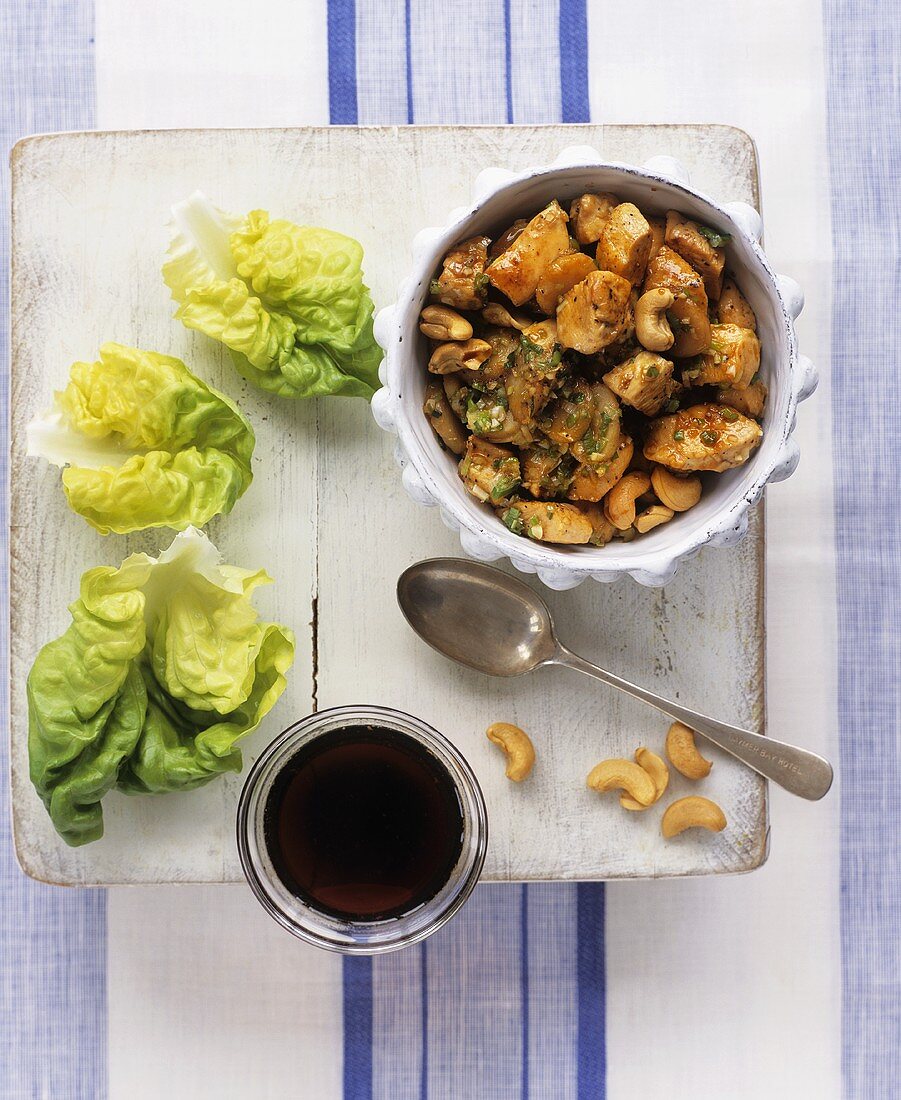
[{"label": "large oval browned chicken piece at the bowl's lower right side", "polygon": [[747,462],[762,436],[758,424],[735,409],[692,405],[651,424],[645,458],[670,470],[722,473]]}]

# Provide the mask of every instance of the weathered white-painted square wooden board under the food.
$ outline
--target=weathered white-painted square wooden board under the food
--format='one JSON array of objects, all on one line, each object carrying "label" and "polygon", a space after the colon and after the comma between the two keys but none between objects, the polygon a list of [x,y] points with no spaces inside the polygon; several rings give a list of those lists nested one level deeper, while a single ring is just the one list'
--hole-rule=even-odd
[{"label": "weathered white-painted square wooden board under the food", "polygon": [[[407,498],[393,442],[362,402],[289,404],[234,373],[220,349],[172,320],[160,277],[168,208],[196,188],[233,210],[263,207],[358,238],[376,304],[394,297],[416,230],[466,201],[487,165],[545,163],[569,144],[611,160],[682,160],[722,199],[757,205],[756,155],[722,127],[409,128],[88,133],[31,139],[13,157],[11,661],[15,844],[28,873],[59,883],[231,882],[240,777],[185,795],[105,802],[102,840],[70,849],[28,778],[25,676],[68,622],[81,572],[156,552],[169,532],[101,538],[72,515],[58,473],[24,455],[24,428],[69,363],[119,340],[182,356],[240,400],[257,432],[255,481],[210,525],[228,561],[264,565],[264,613],[298,636],[290,685],[245,743],[250,761],[314,706],[381,703],[452,738],[488,803],[488,879],[597,879],[749,870],[766,855],[766,788],[711,750],[704,793],[718,836],[664,842],[660,807],[626,814],[584,787],[605,756],[660,748],[666,721],[565,670],[488,681],[420,644],[397,609],[398,573],[460,553],[437,512]],[[546,593],[563,640],[589,658],[724,718],[763,725],[762,515],[737,549],[702,552],[661,591],[631,582]],[[529,579],[528,583],[537,583]],[[504,779],[484,738],[508,719],[538,747],[532,778]],[[690,784],[675,777],[673,796]]]}]

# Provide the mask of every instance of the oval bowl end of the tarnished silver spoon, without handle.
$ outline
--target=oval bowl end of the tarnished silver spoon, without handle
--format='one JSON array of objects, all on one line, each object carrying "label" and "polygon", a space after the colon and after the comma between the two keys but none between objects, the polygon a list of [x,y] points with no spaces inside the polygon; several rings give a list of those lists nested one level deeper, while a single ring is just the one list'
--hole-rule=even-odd
[{"label": "oval bowl end of the tarnished silver spoon, without handle", "polygon": [[550,612],[528,585],[457,558],[410,565],[397,582],[409,625],[439,653],[490,676],[519,676],[551,661]]}]

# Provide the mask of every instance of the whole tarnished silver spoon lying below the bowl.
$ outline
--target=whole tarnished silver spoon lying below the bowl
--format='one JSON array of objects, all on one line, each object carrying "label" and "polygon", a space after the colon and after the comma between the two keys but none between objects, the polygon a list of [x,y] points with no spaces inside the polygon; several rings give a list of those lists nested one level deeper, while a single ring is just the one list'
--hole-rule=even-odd
[{"label": "whole tarnished silver spoon lying below the bowl", "polygon": [[457,558],[420,561],[400,574],[397,602],[420,638],[479,672],[518,676],[565,664],[683,722],[792,794],[822,799],[832,785],[823,757],[697,714],[570,652],[557,640],[543,600],[498,569]]}]

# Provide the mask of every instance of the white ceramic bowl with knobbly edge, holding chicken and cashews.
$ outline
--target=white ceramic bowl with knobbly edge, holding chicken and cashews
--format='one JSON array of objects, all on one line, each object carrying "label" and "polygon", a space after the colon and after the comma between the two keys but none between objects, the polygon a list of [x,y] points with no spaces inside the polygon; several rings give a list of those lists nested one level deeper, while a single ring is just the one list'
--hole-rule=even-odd
[{"label": "white ceramic bowl with knobbly edge, holding chicken and cashews", "polygon": [[[441,450],[422,415],[428,350],[418,319],[429,280],[451,245],[475,233],[497,234],[552,198],[565,207],[585,191],[613,191],[650,213],[677,209],[732,234],[729,267],[757,314],[760,370],[769,399],[760,448],[738,470],[708,479],[694,508],[630,542],[553,547],[514,535],[463,487],[454,457]],[[794,318],[804,304],[801,288],[772,272],[759,245],[761,229],[760,216],[746,204],[721,206],[690,187],[688,173],[672,157],[655,157],[638,168],[604,162],[595,150],[578,146],[564,150],[549,166],[482,172],[471,206],[451,211],[443,227],[417,234],[413,271],[397,301],[376,318],[375,337],[385,359],[380,372],[384,385],[373,398],[373,415],[397,436],[395,455],[409,495],[420,504],[438,505],[441,518],[460,532],[460,543],[471,557],[508,558],[551,588],[570,588],[587,576],[615,581],[626,574],[640,584],[664,584],[679,562],[701,547],[737,542],[747,530],[748,508],[765,486],[788,477],[798,465],[792,439],[795,410],[816,387],[816,371],[799,354],[794,336]]]}]

